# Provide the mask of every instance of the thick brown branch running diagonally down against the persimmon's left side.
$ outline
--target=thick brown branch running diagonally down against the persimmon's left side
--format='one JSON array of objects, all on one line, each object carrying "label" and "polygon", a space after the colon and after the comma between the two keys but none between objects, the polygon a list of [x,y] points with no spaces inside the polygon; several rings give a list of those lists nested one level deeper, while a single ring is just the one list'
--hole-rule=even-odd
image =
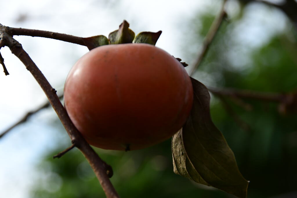
[{"label": "thick brown branch running diagonally down against the persimmon's left side", "polygon": [[60,118],[64,128],[66,129],[72,144],[83,153],[83,155],[88,160],[92,169],[95,172],[105,194],[108,198],[119,197],[113,185],[111,184],[107,171],[109,171],[110,166],[107,165],[102,159],[99,158],[97,153],[91,148],[91,146],[86,142],[80,132],[76,129],[72,121],[70,120],[65,108],[61,104],[56,90],[52,88],[48,80],[38,69],[36,64],[32,61],[30,56],[23,49],[22,45],[12,38],[10,34],[7,33],[8,29],[0,24],[0,35],[2,39],[5,39],[5,45],[8,46],[11,52],[17,56],[20,61],[26,66],[26,68],[31,72],[35,80],[39,83],[42,90],[45,92],[50,104],[56,111],[58,117]]}]

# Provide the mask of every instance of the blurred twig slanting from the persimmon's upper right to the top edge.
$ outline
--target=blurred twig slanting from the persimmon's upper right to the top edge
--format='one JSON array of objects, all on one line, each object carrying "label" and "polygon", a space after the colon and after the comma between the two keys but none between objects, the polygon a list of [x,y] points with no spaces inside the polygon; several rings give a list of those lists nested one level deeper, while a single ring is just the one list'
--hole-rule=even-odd
[{"label": "blurred twig slanting from the persimmon's upper right to the top edge", "polygon": [[217,16],[217,18],[214,20],[214,22],[211,24],[211,27],[208,30],[208,33],[206,34],[206,37],[203,41],[203,45],[202,45],[202,50],[197,58],[197,60],[194,63],[194,66],[191,70],[191,72],[189,72],[189,75],[192,76],[194,74],[194,72],[196,71],[196,69],[198,68],[198,66],[201,64],[203,58],[205,57],[209,46],[211,45],[211,42],[213,41],[215,35],[217,34],[219,27],[222,24],[223,19],[226,17],[226,12],[225,12],[225,4],[226,4],[227,0],[224,0],[223,5],[222,5],[222,9],[219,12],[219,15]]}]

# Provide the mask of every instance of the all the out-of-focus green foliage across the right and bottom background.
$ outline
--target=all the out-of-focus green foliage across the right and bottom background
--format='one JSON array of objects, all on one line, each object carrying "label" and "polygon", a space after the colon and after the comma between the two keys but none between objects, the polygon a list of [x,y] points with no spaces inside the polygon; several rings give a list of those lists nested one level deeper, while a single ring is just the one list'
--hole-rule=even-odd
[{"label": "all the out-of-focus green foliage across the right and bottom background", "polygon": [[[189,42],[182,47],[188,60],[197,56],[197,51],[193,51],[197,46],[193,45],[201,44],[199,38],[206,35],[213,19],[211,14],[199,15],[187,24]],[[241,45],[232,33],[236,22],[241,20],[242,14],[222,24],[193,77],[207,86],[294,91],[297,88],[297,43],[287,33],[296,38],[296,31],[288,26],[268,42],[252,48]],[[236,58],[238,60],[234,60]],[[244,102],[252,109],[238,106],[232,98],[221,100],[213,96],[211,115],[235,153],[239,170],[251,181],[248,197],[263,198],[297,191],[297,113],[281,114],[274,102],[250,99]],[[77,149],[61,159],[52,159],[66,147],[61,144],[45,156],[40,164],[44,175],[32,189],[32,197],[105,197],[89,164]],[[121,197],[233,197],[175,175],[170,140],[140,151],[96,151],[113,167],[111,181]]]}]

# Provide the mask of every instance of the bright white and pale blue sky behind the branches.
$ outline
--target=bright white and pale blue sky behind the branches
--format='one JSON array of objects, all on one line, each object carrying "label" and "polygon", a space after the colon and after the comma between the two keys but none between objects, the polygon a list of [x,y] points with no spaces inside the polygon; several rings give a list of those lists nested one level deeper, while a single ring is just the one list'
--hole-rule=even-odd
[{"label": "bright white and pale blue sky behind the branches", "polygon": [[[162,30],[157,46],[191,63],[192,60],[184,60],[180,49],[181,38],[187,39],[186,35],[182,35],[180,24],[193,17],[197,10],[203,12],[205,7],[212,6],[217,12],[221,3],[220,0],[12,0],[1,4],[0,23],[89,37],[98,34],[108,36],[125,19],[136,34]],[[237,9],[238,2],[230,1],[228,14],[231,18]],[[275,32],[284,28],[281,14],[279,19],[282,23],[278,21],[276,27],[273,18],[255,12],[255,7],[251,7],[246,19],[250,26],[238,26],[234,34],[238,35],[239,41],[257,46],[270,36],[263,35],[267,29]],[[268,25],[263,26],[263,23]],[[245,34],[237,34],[236,31],[244,31]],[[26,36],[15,36],[15,39],[23,45],[58,94],[62,93],[71,66],[88,51],[86,47],[53,39]],[[0,132],[46,101],[39,85],[8,47],[2,48],[1,54],[10,75],[5,76],[0,68]],[[44,110],[0,139],[0,197],[28,197],[28,190],[41,174],[35,165],[41,161],[42,153],[56,147],[59,141],[69,141],[52,126],[55,116],[53,110]]]}]

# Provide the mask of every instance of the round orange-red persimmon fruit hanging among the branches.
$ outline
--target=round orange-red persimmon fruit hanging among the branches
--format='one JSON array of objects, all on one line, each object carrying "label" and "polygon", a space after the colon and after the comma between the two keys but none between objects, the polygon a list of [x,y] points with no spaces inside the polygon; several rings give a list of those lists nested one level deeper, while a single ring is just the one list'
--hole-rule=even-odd
[{"label": "round orange-red persimmon fruit hanging among the branches", "polygon": [[191,80],[173,56],[142,43],[104,45],[70,70],[64,104],[89,144],[136,150],[162,142],[187,120]]}]

